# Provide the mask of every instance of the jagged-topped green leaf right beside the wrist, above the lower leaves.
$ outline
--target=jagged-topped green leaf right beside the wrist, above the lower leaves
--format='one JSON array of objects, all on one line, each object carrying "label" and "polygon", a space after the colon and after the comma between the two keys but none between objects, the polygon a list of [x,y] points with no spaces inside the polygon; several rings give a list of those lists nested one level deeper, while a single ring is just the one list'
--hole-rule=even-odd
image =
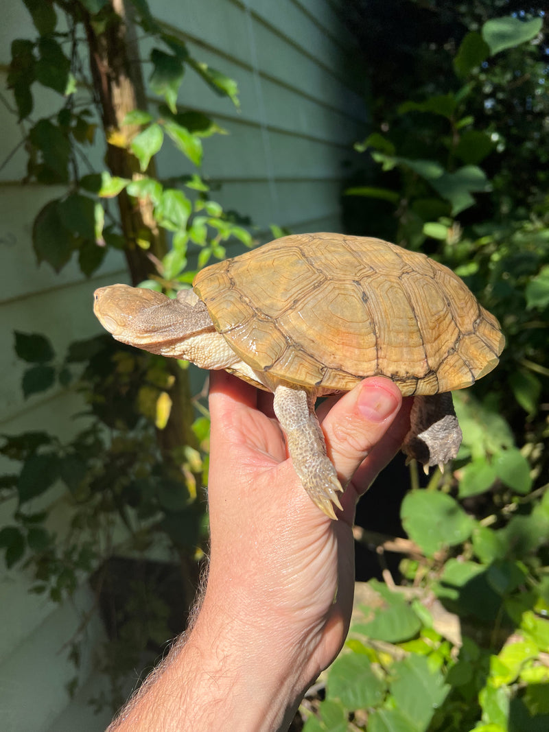
[{"label": "jagged-topped green leaf right beside the wrist, above the lower leaves", "polygon": [[[357,623],[353,626],[353,630],[367,635],[368,638],[387,643],[400,643],[417,635],[421,621],[403,595],[392,592],[376,580],[370,580],[370,586],[384,598],[384,605],[374,610],[372,620]],[[367,614],[372,612],[370,608],[365,610]]]}]

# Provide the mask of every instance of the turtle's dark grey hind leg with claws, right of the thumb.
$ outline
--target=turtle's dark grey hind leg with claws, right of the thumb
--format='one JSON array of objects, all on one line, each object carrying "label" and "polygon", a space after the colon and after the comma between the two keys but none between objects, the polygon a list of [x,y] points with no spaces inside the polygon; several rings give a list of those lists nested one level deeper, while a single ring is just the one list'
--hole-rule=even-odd
[{"label": "turtle's dark grey hind leg with claws, right of the thumb", "polygon": [[414,397],[410,431],[402,446],[408,458],[418,460],[428,472],[430,466],[453,460],[462,438],[450,392]]}]

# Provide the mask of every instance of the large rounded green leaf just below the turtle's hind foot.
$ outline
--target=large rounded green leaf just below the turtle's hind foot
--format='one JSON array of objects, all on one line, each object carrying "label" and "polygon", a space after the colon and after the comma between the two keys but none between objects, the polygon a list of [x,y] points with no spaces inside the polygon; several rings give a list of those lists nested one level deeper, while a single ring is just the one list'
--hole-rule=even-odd
[{"label": "large rounded green leaf just below the turtle's hind foot", "polygon": [[461,544],[471,535],[473,520],[446,493],[413,490],[404,498],[400,515],[408,536],[427,556],[444,546]]}]

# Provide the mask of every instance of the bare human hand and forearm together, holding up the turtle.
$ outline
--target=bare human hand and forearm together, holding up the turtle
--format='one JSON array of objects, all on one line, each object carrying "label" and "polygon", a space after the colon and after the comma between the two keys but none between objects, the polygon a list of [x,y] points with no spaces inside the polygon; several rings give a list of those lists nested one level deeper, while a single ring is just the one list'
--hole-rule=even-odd
[{"label": "bare human hand and forearm together, holding up the turtle", "polygon": [[346,486],[333,521],[296,477],[272,395],[212,373],[206,593],[193,628],[113,731],[288,728],[346,638],[354,508],[406,435],[411,400],[401,401],[392,381],[374,377],[318,408]]}]

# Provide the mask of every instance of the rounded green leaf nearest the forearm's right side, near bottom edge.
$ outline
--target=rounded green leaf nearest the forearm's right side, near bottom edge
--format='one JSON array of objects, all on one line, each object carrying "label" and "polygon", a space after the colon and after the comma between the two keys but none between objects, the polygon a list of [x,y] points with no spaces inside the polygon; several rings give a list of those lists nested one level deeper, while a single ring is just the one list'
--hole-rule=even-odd
[{"label": "rounded green leaf nearest the forearm's right side, near bottom edge", "polygon": [[384,681],[372,671],[370,661],[362,654],[345,654],[330,668],[327,698],[339,699],[346,709],[365,709],[383,699]]}]

